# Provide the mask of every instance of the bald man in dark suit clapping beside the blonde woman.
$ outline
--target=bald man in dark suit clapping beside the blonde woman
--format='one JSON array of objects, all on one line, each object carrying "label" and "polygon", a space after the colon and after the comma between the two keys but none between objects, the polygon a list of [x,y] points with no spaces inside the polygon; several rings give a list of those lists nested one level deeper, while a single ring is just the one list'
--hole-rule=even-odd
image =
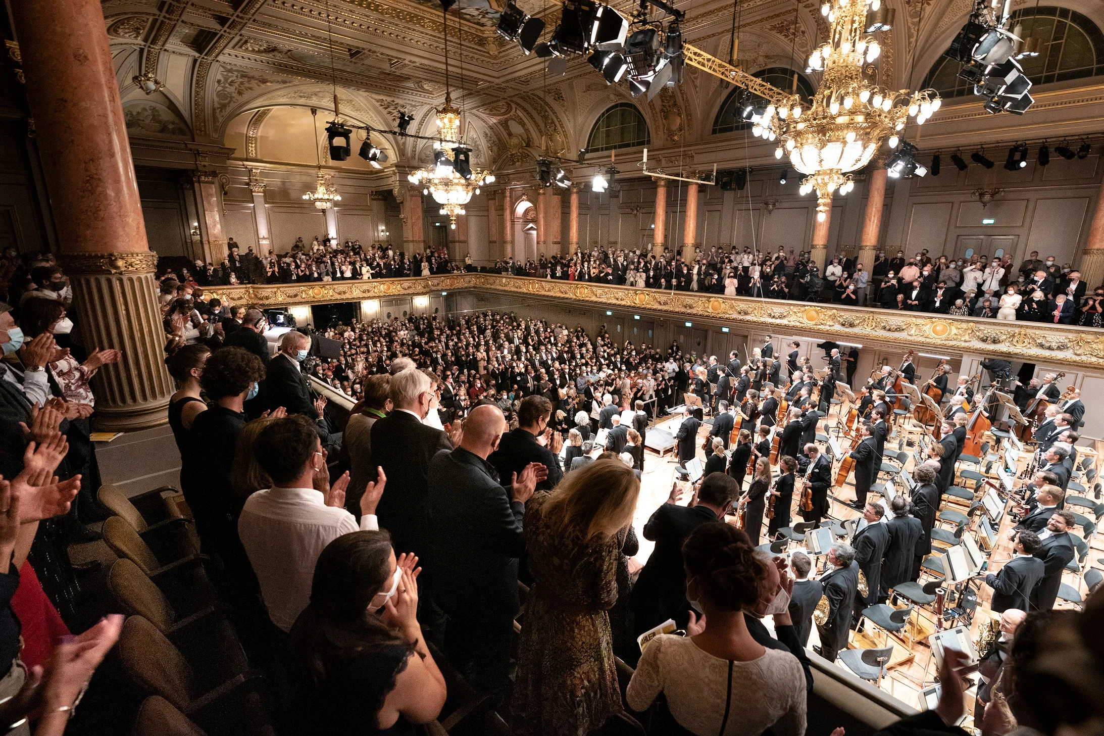
[{"label": "bald man in dark suit clapping beside the blonde woman", "polygon": [[[526,501],[548,468],[530,462],[499,484],[487,457],[498,448],[506,418],[497,406],[477,406],[464,422],[455,450],[429,462],[431,575],[436,602],[448,615],[445,652],[478,689],[508,682],[510,636],[518,614],[518,557],[526,550]],[[422,552],[422,551],[418,551]]]}]

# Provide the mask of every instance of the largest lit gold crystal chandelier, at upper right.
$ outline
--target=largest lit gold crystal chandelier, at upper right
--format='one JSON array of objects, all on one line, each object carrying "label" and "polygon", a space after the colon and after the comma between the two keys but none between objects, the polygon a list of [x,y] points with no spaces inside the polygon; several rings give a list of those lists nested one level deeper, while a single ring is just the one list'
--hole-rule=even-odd
[{"label": "largest lit gold crystal chandelier, at upper right", "polygon": [[877,11],[881,0],[824,0],[820,12],[828,17],[828,43],[815,49],[808,65],[824,72],[811,109],[803,109],[792,95],[753,115],[752,132],[777,140],[777,158],[788,153],[794,168],[807,174],[802,194],[817,192],[817,218],[831,209],[832,193],[854,188],[849,172],[870,162],[885,141],[896,148],[909,118],[917,125],[940,108],[935,89],[892,90],[863,78],[863,63],[881,54],[878,41],[867,34],[867,11]]}]

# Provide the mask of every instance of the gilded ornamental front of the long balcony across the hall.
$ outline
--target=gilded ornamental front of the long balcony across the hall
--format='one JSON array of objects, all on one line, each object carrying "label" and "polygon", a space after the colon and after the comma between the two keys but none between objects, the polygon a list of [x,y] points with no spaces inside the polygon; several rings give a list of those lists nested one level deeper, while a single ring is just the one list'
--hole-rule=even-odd
[{"label": "gilded ornamental front of the long balcony across the hall", "polygon": [[[1040,322],[1004,322],[975,318],[898,312],[863,307],[841,307],[777,299],[660,291],[581,281],[455,274],[426,278],[369,281],[325,281],[295,286],[213,287],[208,295],[235,305],[282,307],[386,297],[426,295],[432,291],[478,289],[526,295],[539,299],[583,302],[626,309],[699,317],[722,322],[793,330],[796,334],[862,338],[898,348],[942,349],[1006,358],[1013,361],[1104,369],[1104,330]],[[783,332],[785,334],[785,332]]]}]

